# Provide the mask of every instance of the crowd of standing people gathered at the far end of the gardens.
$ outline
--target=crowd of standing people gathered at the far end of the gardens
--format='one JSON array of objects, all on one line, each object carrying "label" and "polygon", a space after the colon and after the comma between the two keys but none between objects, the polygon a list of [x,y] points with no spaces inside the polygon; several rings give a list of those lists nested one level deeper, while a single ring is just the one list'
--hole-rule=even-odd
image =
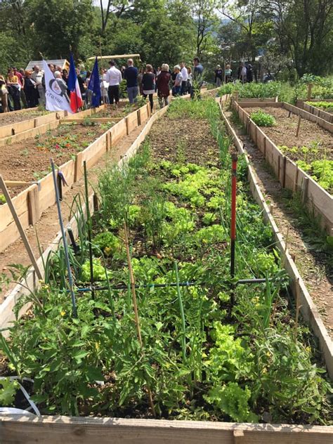
[{"label": "crowd of standing people gathered at the far end of the gardens", "polygon": [[[150,106],[153,107],[153,96],[157,93],[159,106],[168,105],[169,96],[183,96],[190,93],[193,97],[200,94],[203,84],[204,67],[199,58],[195,57],[192,66],[181,62],[171,70],[169,65],[163,63],[155,69],[148,64],[145,67],[137,68],[133,60],[127,60],[127,66],[119,69],[115,61],[110,60],[109,69],[100,69],[100,90],[101,103],[119,103],[122,93],[122,84],[126,84],[126,92],[129,103],[137,101],[138,96],[149,98]],[[68,70],[60,66],[48,65],[60,88],[64,93],[67,91]],[[82,99],[86,105],[91,105],[92,91],[88,89],[91,72],[81,72],[77,68],[77,79],[81,91]],[[221,86],[223,82],[229,83],[239,79],[244,82],[253,81],[252,65],[250,63],[240,63],[237,70],[237,77],[233,75],[230,65],[226,65],[224,70],[221,65],[217,65],[214,70],[214,83]],[[38,65],[33,70],[18,70],[16,67],[8,69],[7,76],[0,74],[0,98],[2,112],[20,110],[22,107],[45,106],[45,81],[44,72]]]}]

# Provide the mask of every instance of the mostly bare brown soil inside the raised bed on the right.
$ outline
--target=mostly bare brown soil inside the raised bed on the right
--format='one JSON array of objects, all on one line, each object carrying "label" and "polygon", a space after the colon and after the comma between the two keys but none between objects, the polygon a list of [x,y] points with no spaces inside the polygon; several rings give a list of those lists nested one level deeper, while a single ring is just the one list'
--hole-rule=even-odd
[{"label": "mostly bare brown soil inside the raised bed on the right", "polygon": [[[259,107],[247,107],[245,110],[251,115],[252,112],[259,110]],[[315,159],[333,159],[333,137],[329,131],[326,131],[318,124],[301,119],[299,137],[296,137],[297,123],[299,116],[291,114],[285,108],[265,107],[261,110],[273,115],[276,119],[276,126],[265,126],[261,128],[271,141],[277,146],[287,145],[288,148],[306,147],[311,148],[309,152],[303,153],[302,150],[286,154],[294,161],[304,160],[312,162]],[[314,148],[314,150],[313,150]],[[315,152],[318,150],[318,152]]]}]

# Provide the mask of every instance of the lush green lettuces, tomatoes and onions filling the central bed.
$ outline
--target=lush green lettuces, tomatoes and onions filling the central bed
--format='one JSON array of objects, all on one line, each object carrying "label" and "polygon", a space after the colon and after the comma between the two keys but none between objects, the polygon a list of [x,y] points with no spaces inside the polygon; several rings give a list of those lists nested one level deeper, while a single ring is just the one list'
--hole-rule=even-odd
[{"label": "lush green lettuces, tomatoes and onions filling the central bed", "polygon": [[[46,284],[20,300],[39,303],[3,341],[9,370],[34,379],[33,399],[43,413],[151,417],[149,388],[157,417],[255,422],[268,415],[273,422],[328,422],[329,384],[314,362],[308,329],[296,329],[290,315],[286,273],[249,195],[242,158],[236,280],[255,276],[266,282],[233,288],[230,144],[216,103],[176,100],[169,115],[196,119],[198,126],[208,119],[217,141],[209,160],[214,165],[187,162],[190,143],[183,144],[180,162],[176,150],[162,159],[164,145],[146,142],[126,166],[108,166],[93,218],[93,272],[107,292],[96,290],[92,299],[91,292],[77,291],[73,319],[60,249],[45,264]],[[79,256],[70,253],[77,287],[90,278],[86,230],[79,226]],[[237,301],[232,318],[231,292]]]}]

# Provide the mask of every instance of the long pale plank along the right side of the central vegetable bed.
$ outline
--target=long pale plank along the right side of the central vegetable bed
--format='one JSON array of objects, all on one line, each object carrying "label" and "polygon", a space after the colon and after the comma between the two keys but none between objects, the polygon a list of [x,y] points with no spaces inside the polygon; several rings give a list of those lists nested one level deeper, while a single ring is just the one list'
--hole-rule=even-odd
[{"label": "long pale plank along the right side of the central vegetable bed", "polygon": [[[245,159],[247,161],[248,165],[248,180],[249,185],[252,190],[252,195],[254,196],[254,199],[256,202],[260,205],[260,207],[263,209],[263,217],[265,218],[266,222],[269,224],[270,228],[272,228],[274,237],[276,240],[276,245],[278,249],[280,250],[280,253],[284,257],[284,266],[287,270],[287,273],[290,278],[290,285],[292,289],[292,294],[296,298],[296,293],[299,294],[299,299],[301,303],[301,314],[303,315],[303,319],[308,322],[308,324],[311,326],[311,329],[313,330],[313,333],[318,338],[320,350],[322,351],[324,358],[325,358],[325,364],[327,366],[327,372],[329,374],[329,377],[333,379],[333,344],[332,340],[329,337],[329,334],[327,333],[327,329],[325,328],[325,325],[322,322],[322,319],[320,318],[320,314],[318,312],[317,307],[315,306],[315,303],[313,303],[313,300],[308,292],[308,289],[306,289],[306,285],[303,282],[303,279],[301,278],[301,275],[299,274],[299,271],[296,267],[296,264],[294,263],[294,260],[292,259],[292,256],[290,256],[288,249],[286,250],[286,244],[285,240],[283,239],[282,234],[280,233],[278,226],[276,225],[274,218],[271,214],[270,209],[268,208],[268,205],[266,204],[266,200],[263,197],[263,194],[261,192],[261,189],[258,185],[258,181],[256,178],[256,173],[249,162],[249,158],[247,157],[247,152],[243,148],[243,144],[240,141],[240,139],[237,137],[237,134],[235,133],[233,127],[230,125],[230,122],[228,121],[228,118],[224,114],[222,107],[221,107],[221,115],[223,117],[223,120],[226,124],[228,133],[230,134],[231,138],[233,138],[233,143],[235,144],[237,150],[244,154]],[[261,131],[259,129],[259,131]],[[266,138],[266,143],[269,141],[268,138]],[[270,142],[270,141],[269,141]],[[270,142],[271,143],[271,142]],[[287,162],[288,159],[286,159],[286,168],[287,168]],[[290,161],[289,161],[290,162]],[[302,174],[303,171],[301,169],[298,169],[299,174]],[[286,175],[287,177],[287,175]],[[312,181],[312,179],[311,179]],[[310,181],[308,181],[308,186],[310,186]]]}]

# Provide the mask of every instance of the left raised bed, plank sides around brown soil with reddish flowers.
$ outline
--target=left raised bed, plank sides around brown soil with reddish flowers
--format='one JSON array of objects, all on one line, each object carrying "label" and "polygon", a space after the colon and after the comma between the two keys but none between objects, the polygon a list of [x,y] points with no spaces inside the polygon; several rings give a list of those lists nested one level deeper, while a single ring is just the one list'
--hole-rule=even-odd
[{"label": "left raised bed, plank sides around brown soil with reddish flowers", "polygon": [[[58,143],[52,142],[52,150],[53,152],[50,152],[48,149],[45,149],[45,147],[41,146],[43,150],[38,152],[38,156],[41,157],[41,163],[38,167],[38,172],[42,176],[45,176],[44,178],[40,178],[38,176],[33,175],[33,171],[31,168],[31,164],[29,164],[27,157],[32,155],[32,152],[30,152],[30,149],[27,148],[27,143],[30,140],[30,144],[34,146],[35,141],[34,139],[30,138],[25,141],[25,143],[20,143],[12,141],[11,145],[4,145],[4,147],[0,148],[2,150],[3,154],[1,155],[1,163],[4,165],[8,161],[8,166],[1,167],[0,166],[0,174],[4,176],[5,180],[8,181],[37,181],[37,183],[30,185],[28,188],[25,188],[25,190],[22,190],[19,192],[18,195],[13,197],[13,204],[15,206],[15,209],[18,211],[18,216],[20,217],[20,221],[22,223],[23,228],[27,228],[29,225],[34,225],[36,221],[40,218],[43,211],[45,211],[48,207],[53,205],[55,203],[55,195],[53,190],[53,181],[52,181],[52,175],[51,173],[48,174],[49,169],[49,157],[53,156],[55,164],[58,164],[58,170],[63,173],[65,176],[65,179],[67,181],[67,185],[70,187],[72,183],[76,182],[81,178],[82,176],[82,169],[83,169],[83,162],[86,161],[88,168],[93,166],[97,162],[97,160],[103,155],[103,153],[106,150],[109,150],[112,146],[119,143],[119,141],[126,136],[127,133],[133,131],[133,129],[138,126],[139,117],[141,119],[141,122],[145,122],[146,119],[148,119],[148,107],[147,105],[144,105],[139,110],[134,111],[132,114],[133,116],[129,115],[129,124],[127,123],[128,117],[125,117],[124,119],[119,120],[116,124],[114,124],[110,129],[100,129],[99,133],[93,133],[90,137],[90,145],[87,148],[84,148],[83,146],[77,146],[77,148],[83,150],[78,150],[77,148],[70,148],[70,150],[67,150],[67,153],[62,157],[58,157],[60,160],[57,162],[57,155],[59,154],[57,152],[58,148],[55,145],[58,145]],[[91,111],[91,110],[87,110]],[[112,121],[111,121],[112,122]],[[74,123],[73,123],[74,124]],[[59,126],[59,121],[55,121],[50,125],[54,125],[55,128]],[[70,128],[65,126],[60,126],[60,128],[64,128],[64,131],[68,133],[70,129],[74,129],[77,131],[78,129],[82,128],[86,133],[89,133],[90,131],[93,131],[94,128],[99,128],[100,125],[97,126],[71,126]],[[40,127],[39,127],[40,128]],[[37,128],[36,130],[39,130]],[[34,130],[30,130],[34,131]],[[54,131],[57,131],[57,129],[53,129]],[[79,137],[80,137],[80,131]],[[19,137],[21,134],[18,134]],[[34,134],[32,134],[35,136]],[[96,139],[96,136],[98,137]],[[72,138],[69,136],[69,138]],[[40,140],[48,140],[48,135],[39,136]],[[94,140],[96,139],[96,140]],[[58,141],[57,141],[58,142]],[[69,143],[77,145],[76,142],[69,141]],[[42,145],[39,143],[39,145]],[[16,147],[20,154],[17,163],[18,165],[13,167],[13,148]],[[4,152],[7,153],[4,155]],[[37,156],[34,154],[32,157],[32,162],[39,162],[37,159]],[[62,162],[63,161],[63,162]],[[13,172],[15,171],[15,177]],[[63,188],[63,192],[66,192],[66,186]],[[13,190],[18,190],[18,188],[11,188],[12,192]],[[12,244],[17,240],[19,237],[18,228],[15,226],[15,223],[13,221],[13,217],[11,216],[11,212],[8,209],[7,204],[0,205],[0,252],[4,251],[8,245]]]}]

